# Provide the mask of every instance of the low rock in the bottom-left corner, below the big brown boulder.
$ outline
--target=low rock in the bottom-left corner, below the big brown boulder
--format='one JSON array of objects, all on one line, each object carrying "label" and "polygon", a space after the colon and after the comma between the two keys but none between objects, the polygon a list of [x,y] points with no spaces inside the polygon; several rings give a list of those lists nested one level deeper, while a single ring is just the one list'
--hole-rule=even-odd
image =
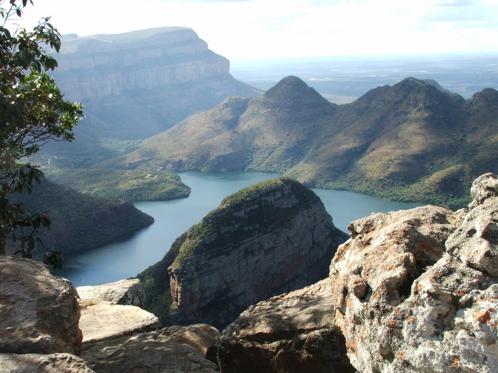
[{"label": "low rock in the bottom-left corner, below the big brown boulder", "polygon": [[0,373],[95,373],[70,354],[0,354]]}]

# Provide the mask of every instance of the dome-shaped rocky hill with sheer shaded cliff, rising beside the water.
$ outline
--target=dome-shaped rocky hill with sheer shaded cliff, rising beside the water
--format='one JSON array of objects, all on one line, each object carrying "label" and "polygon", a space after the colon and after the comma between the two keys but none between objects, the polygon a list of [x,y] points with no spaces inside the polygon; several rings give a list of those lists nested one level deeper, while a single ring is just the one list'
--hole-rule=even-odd
[{"label": "dome-shaped rocky hill with sheer shaded cliff, rising beside the water", "polygon": [[346,237],[320,198],[298,182],[281,178],[242,189],[173,245],[181,246],[168,268],[172,324],[221,329],[251,304],[321,280]]}]

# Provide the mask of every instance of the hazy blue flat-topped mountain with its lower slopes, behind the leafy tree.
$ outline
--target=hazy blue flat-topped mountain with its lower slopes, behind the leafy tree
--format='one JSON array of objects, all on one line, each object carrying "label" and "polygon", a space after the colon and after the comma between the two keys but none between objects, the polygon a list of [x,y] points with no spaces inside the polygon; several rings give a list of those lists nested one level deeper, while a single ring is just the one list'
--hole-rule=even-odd
[{"label": "hazy blue flat-topped mountain with its lower slopes, behind the leafy tree", "polygon": [[160,133],[230,95],[262,90],[230,75],[230,62],[191,28],[159,27],[122,34],[64,35],[51,73],[65,98],[83,102],[85,118],[72,144],[47,144],[44,159],[84,167]]}]

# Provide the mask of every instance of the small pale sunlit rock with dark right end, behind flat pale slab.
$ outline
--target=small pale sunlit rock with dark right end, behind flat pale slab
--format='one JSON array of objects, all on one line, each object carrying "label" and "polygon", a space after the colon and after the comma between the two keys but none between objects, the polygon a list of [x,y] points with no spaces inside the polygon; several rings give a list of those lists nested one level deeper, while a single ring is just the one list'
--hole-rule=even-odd
[{"label": "small pale sunlit rock with dark right end, behind flat pale slab", "polygon": [[85,303],[145,306],[145,292],[138,279],[121,280],[98,286],[78,286],[78,295]]}]

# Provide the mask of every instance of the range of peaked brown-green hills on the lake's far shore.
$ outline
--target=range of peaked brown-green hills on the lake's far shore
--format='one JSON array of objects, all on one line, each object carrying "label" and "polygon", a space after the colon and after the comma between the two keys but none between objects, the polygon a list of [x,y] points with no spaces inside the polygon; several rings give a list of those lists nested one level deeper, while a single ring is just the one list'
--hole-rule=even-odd
[{"label": "range of peaked brown-green hills on the lake's far shore", "polygon": [[337,105],[290,76],[258,97],[229,97],[98,166],[279,172],[308,186],[458,208],[476,176],[498,171],[497,127],[491,88],[466,100],[406,78]]}]

